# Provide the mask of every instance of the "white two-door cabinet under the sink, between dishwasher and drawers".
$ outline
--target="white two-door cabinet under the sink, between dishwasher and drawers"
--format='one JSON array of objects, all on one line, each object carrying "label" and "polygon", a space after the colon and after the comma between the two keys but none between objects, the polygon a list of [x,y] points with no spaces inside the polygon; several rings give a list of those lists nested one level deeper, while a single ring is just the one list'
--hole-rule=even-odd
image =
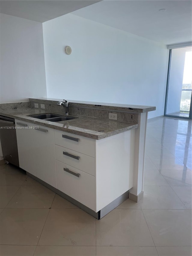
[{"label": "white two-door cabinet under the sink, between dishwasher and drawers", "polygon": [[56,188],[53,129],[20,120],[16,126],[19,167]]}]

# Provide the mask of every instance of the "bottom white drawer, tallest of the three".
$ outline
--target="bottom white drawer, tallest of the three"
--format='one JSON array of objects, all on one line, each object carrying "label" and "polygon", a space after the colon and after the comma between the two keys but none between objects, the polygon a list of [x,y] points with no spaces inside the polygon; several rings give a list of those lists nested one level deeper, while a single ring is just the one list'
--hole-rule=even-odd
[{"label": "bottom white drawer, tallest of the three", "polygon": [[57,189],[95,211],[94,176],[59,161],[56,161],[56,176]]}]

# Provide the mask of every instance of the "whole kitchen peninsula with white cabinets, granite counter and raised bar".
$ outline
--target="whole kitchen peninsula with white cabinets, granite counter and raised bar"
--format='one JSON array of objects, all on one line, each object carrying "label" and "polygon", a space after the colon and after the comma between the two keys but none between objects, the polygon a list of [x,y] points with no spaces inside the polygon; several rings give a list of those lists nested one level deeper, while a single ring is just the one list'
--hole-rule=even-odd
[{"label": "whole kitchen peninsula with white cabinets, granite counter and raised bar", "polygon": [[69,101],[78,118],[50,122],[30,115],[64,114],[60,100],[29,100],[31,108],[0,110],[16,119],[19,166],[28,175],[98,219],[128,197],[140,200],[147,112],[155,107]]}]

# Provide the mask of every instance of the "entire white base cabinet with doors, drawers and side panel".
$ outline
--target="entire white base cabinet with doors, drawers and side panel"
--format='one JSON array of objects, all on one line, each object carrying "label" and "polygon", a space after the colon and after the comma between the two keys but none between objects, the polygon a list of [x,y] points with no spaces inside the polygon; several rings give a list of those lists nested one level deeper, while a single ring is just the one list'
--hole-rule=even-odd
[{"label": "entire white base cabinet with doors, drawers and side panel", "polygon": [[[98,212],[133,187],[135,130],[94,140],[16,120],[19,166]],[[26,127],[26,128],[25,128]]]}]

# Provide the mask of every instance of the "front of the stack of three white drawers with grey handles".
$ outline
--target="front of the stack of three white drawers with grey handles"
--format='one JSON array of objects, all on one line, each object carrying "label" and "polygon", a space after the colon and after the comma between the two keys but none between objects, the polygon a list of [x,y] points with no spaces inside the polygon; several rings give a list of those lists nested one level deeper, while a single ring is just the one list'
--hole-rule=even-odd
[{"label": "front of the stack of three white drawers with grey handles", "polygon": [[95,211],[95,140],[54,133],[57,188]]}]

